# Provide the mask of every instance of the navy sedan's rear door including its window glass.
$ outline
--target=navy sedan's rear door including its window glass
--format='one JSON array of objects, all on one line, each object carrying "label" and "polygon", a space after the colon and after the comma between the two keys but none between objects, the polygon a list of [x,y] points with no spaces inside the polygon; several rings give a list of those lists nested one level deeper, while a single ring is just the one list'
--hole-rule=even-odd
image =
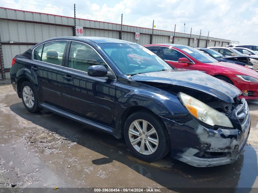
[{"label": "navy sedan's rear door including its window glass", "polygon": [[39,102],[63,106],[62,70],[67,40],[49,41],[33,50],[30,69],[38,81]]}]

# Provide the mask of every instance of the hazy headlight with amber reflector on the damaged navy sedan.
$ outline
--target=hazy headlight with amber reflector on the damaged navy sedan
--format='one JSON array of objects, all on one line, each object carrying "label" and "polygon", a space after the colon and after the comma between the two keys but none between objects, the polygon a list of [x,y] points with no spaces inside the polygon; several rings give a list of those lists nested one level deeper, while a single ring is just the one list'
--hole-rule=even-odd
[{"label": "hazy headlight with amber reflector on the damaged navy sedan", "polygon": [[179,97],[189,113],[195,116],[198,120],[211,126],[218,125],[233,128],[231,121],[224,113],[220,113],[209,105],[206,105],[198,99],[184,94],[183,92],[179,93]]}]

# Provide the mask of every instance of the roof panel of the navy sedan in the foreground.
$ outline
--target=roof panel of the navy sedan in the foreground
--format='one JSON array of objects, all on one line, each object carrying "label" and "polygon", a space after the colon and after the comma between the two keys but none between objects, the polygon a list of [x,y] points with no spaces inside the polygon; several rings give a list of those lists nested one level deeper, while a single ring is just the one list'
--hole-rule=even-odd
[{"label": "roof panel of the navy sedan in the foreground", "polygon": [[77,40],[82,42],[92,41],[95,44],[112,44],[112,43],[118,43],[118,44],[136,44],[134,42],[125,41],[125,40],[119,40],[114,38],[103,38],[103,37],[92,37],[92,36],[70,36],[70,37],[58,37],[58,38],[51,38],[46,41],[50,40]]}]

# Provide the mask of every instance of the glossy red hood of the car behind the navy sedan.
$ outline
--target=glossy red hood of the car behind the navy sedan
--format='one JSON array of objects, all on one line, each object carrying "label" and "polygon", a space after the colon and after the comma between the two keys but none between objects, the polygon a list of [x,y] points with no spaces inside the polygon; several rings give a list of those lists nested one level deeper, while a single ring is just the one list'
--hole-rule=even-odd
[{"label": "glossy red hood of the car behind the navy sedan", "polygon": [[250,68],[246,68],[245,66],[241,66],[234,63],[229,62],[214,62],[214,63],[205,63],[207,65],[213,65],[214,68],[218,66],[220,71],[224,71],[227,74],[239,74],[239,75],[247,75],[254,78],[258,78],[258,73],[255,70]]}]

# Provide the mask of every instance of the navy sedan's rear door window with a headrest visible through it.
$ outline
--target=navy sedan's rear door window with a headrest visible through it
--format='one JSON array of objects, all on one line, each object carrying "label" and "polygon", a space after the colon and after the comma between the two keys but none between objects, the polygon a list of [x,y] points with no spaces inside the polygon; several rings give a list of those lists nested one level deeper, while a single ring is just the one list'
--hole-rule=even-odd
[{"label": "navy sedan's rear door window with a headrest visible through it", "polygon": [[67,41],[51,41],[45,43],[42,53],[42,62],[62,65],[64,48]]}]

